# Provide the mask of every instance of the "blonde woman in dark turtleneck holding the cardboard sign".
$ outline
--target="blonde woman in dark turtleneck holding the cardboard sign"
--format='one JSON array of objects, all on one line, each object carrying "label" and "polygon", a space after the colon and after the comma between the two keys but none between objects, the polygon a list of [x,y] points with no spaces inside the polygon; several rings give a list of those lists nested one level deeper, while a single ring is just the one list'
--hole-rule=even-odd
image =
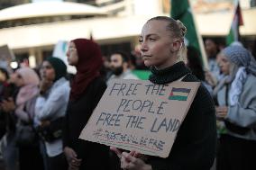
[{"label": "blonde woman in dark turtleneck holding the cardboard sign", "polygon": [[[151,67],[150,81],[169,84],[174,81],[198,82],[182,60],[186,27],[166,16],[151,18],[142,28],[142,59]],[[136,151],[111,148],[121,160],[121,168],[133,170],[210,169],[215,159],[215,104],[206,87],[200,85],[187,116],[178,130],[169,157],[147,157]]]}]

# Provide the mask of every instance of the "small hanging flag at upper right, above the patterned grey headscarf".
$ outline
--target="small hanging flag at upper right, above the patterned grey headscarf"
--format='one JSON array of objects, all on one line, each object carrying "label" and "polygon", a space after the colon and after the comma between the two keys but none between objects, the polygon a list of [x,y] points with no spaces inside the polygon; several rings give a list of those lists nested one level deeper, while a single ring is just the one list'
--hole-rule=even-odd
[{"label": "small hanging flag at upper right, above the patterned grey headscarf", "polygon": [[239,34],[239,26],[243,25],[242,22],[242,13],[239,1],[236,1],[235,8],[233,14],[233,22],[231,24],[230,31],[226,37],[226,44],[230,45],[233,41],[238,41],[240,34]]}]

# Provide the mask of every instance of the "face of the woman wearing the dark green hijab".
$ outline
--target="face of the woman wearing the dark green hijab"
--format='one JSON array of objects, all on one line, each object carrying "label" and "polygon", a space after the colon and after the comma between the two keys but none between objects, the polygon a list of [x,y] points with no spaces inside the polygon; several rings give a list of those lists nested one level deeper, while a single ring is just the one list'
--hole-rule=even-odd
[{"label": "face of the woman wearing the dark green hijab", "polygon": [[53,81],[55,79],[55,70],[49,61],[43,61],[41,67],[41,78]]}]

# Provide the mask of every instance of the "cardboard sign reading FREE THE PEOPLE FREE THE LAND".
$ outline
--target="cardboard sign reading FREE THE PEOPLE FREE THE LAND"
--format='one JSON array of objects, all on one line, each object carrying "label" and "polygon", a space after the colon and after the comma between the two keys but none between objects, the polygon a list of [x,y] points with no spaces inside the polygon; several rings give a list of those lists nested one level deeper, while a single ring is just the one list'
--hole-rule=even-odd
[{"label": "cardboard sign reading FREE THE PEOPLE FREE THE LAND", "polygon": [[113,80],[80,139],[168,157],[200,83]]}]

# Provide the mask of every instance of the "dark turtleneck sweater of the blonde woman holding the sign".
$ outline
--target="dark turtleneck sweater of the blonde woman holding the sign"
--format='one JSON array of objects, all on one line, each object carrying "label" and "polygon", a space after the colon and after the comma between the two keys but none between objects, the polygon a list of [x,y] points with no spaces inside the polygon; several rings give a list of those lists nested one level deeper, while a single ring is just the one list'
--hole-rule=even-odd
[{"label": "dark turtleneck sweater of the blonde woman holding the sign", "polygon": [[[199,82],[183,62],[164,70],[152,69],[150,80],[156,84],[168,84],[185,76],[184,82]],[[150,157],[147,161],[153,170],[210,169],[216,150],[215,103],[200,85],[187,116],[178,130],[177,139],[169,157]]]}]

